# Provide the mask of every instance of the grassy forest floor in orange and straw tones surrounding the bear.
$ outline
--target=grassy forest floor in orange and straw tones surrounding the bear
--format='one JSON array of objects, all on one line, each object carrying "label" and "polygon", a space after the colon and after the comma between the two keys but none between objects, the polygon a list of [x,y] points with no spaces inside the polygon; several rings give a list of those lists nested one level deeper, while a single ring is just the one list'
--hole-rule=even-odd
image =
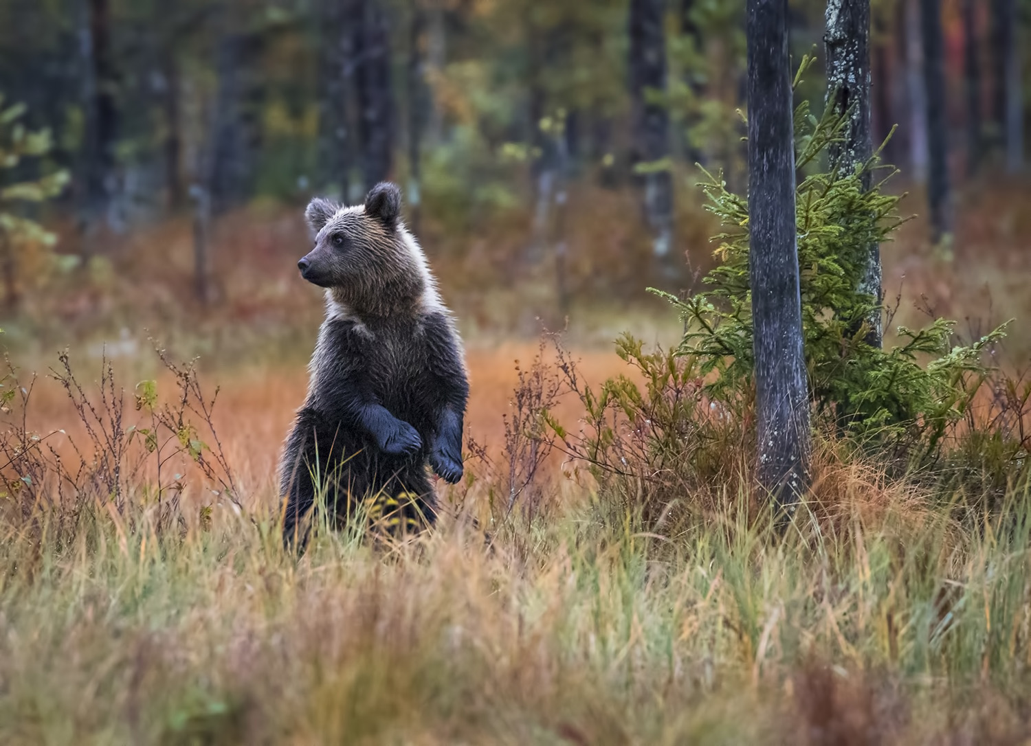
[{"label": "grassy forest floor in orange and straw tones surrounding the bear", "polygon": [[[921,241],[919,222],[886,247],[889,300],[902,287],[896,323],[931,310],[971,336],[1029,317],[1031,215],[1001,192],[970,200],[951,255]],[[645,525],[639,484],[599,485],[560,450],[516,442],[526,422],[519,392],[539,403],[557,375],[541,327],[566,323],[546,262],[503,281],[497,257],[516,250],[511,241],[433,258],[467,339],[467,435],[485,446],[470,448],[461,484],[439,485],[438,528],[373,541],[356,523],[320,533],[299,561],[287,555],[274,474],[321,300],[293,269],[304,243],[297,216],[255,210],[219,229],[217,262],[234,271],[220,270],[210,308],[192,307],[182,223],[131,236],[86,280],[53,278],[58,292],[30,296],[3,325],[23,383],[32,370],[61,372],[55,350],[67,346],[95,411],[76,412],[45,375],[26,420],[21,397],[5,407],[5,443],[18,445],[19,428],[40,434],[41,445],[22,445],[52,467],[53,446],[76,497],[52,505],[54,473],[20,483],[4,470],[0,742],[1031,739],[1026,484],[1003,490],[1005,509],[971,528],[957,518],[966,496],[890,480],[821,440],[811,499],[778,534],[747,487],[747,446],[728,442],[726,471],[737,478],[684,495],[708,507],[675,531]],[[613,269],[636,261],[620,227],[571,230],[580,236],[571,245],[598,248],[573,251],[565,344],[592,384],[632,375],[611,340],[627,331],[668,346],[679,324],[641,292],[590,284],[603,272],[646,284],[633,267]],[[427,232],[427,245],[440,245],[439,229]],[[1003,361],[1015,371],[1031,351],[1023,329],[1011,330]],[[143,437],[115,439],[119,450],[108,430],[142,432],[165,405],[182,410],[182,379],[149,351],[148,335],[173,361],[200,354],[188,381],[202,386],[197,401],[219,386],[218,400],[209,421],[186,411],[192,428],[154,428],[166,450]],[[110,391],[125,389],[122,410],[98,393],[102,357]],[[138,385],[149,379],[157,402]],[[567,395],[555,412],[573,430],[583,410]],[[209,476],[191,457],[194,439],[224,457]]]}]

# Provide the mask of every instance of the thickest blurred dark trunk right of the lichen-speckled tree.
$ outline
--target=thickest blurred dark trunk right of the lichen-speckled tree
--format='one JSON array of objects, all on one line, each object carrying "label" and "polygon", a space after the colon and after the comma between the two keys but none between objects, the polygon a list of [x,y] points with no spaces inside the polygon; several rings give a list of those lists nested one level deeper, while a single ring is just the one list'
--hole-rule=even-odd
[{"label": "thickest blurred dark trunk right of the lichen-speckled tree", "polygon": [[924,86],[927,89],[927,197],[931,209],[931,240],[949,235],[949,141],[945,111],[945,58],[941,36],[940,0],[920,0],[924,42]]}]

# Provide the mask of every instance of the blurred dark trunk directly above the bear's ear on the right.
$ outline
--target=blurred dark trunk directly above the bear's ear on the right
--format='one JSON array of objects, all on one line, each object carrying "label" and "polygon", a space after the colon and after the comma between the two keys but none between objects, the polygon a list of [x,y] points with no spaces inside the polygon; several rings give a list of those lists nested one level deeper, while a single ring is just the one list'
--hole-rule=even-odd
[{"label": "blurred dark trunk directly above the bear's ear on the right", "polygon": [[391,81],[390,35],[381,0],[357,0],[355,83],[362,176],[370,190],[391,173],[394,155],[394,97]]}]

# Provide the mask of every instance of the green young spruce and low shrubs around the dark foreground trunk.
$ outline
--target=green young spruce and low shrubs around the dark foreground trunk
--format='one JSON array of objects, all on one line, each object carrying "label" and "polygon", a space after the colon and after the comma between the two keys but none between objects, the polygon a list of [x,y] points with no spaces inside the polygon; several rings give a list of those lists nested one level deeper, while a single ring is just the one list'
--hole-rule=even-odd
[{"label": "green young spruce and low shrubs around the dark foreground trunk", "polygon": [[[889,348],[868,343],[866,319],[886,309],[858,289],[870,245],[890,240],[903,222],[897,212],[901,198],[884,191],[892,169],[864,189],[864,176],[884,168],[878,155],[853,172],[819,167],[828,146],[841,140],[844,125],[845,117],[831,110],[817,118],[807,103],[796,109],[796,164],[806,174],[797,186],[798,256],[814,422],[832,438],[876,452],[901,475],[939,465],[946,435],[961,426],[968,436],[982,432],[972,407],[993,371],[985,353],[1003,337],[1003,327],[958,344],[955,324],[934,318],[920,330],[899,327],[898,342]],[[708,209],[724,228],[713,238],[720,264],[690,297],[653,290],[679,312],[680,343],[645,353],[639,340],[624,336],[617,352],[634,365],[643,384],[621,377],[595,392],[579,386],[573,370],[567,377],[587,410],[585,427],[571,439],[551,420],[568,452],[590,464],[596,476],[630,477],[643,485],[638,495],[646,493],[645,502],[658,497],[663,510],[714,477],[736,480],[752,461],[747,200],[705,173]],[[1011,394],[1009,400],[1018,397]],[[1011,418],[1012,407],[1007,411]],[[1023,414],[1017,419],[1023,422]],[[1009,457],[993,464],[1005,470],[1018,463],[1023,446],[1009,435],[997,438],[1005,443],[995,451]]]}]

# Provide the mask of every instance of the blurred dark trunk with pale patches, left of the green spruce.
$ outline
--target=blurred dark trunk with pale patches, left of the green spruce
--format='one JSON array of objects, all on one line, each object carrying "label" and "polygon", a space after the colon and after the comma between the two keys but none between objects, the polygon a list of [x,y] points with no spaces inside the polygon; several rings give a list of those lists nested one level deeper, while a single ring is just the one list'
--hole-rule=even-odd
[{"label": "blurred dark trunk with pale patches, left of the green spruce", "polygon": [[666,91],[665,0],[630,0],[630,97],[633,161],[644,167],[644,216],[663,270],[672,267],[673,179],[669,169],[669,113],[653,100]]}]

